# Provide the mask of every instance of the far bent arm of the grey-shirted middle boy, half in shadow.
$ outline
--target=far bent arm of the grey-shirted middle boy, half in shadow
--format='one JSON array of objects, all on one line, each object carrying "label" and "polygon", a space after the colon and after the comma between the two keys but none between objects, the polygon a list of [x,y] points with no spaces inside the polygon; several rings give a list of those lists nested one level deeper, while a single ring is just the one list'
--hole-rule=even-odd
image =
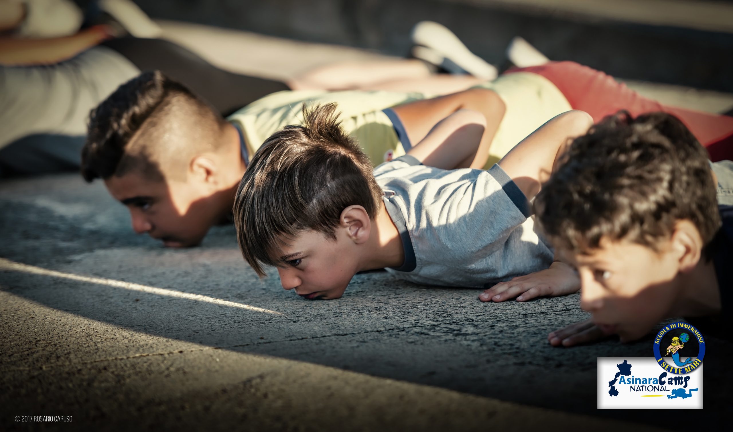
[{"label": "far bent arm of the grey-shirted middle boy, half in shadow", "polygon": [[435,125],[427,136],[408,151],[425,165],[454,169],[471,164],[476,158],[486,158],[488,149],[480,147],[486,126],[478,111],[460,109]]}]

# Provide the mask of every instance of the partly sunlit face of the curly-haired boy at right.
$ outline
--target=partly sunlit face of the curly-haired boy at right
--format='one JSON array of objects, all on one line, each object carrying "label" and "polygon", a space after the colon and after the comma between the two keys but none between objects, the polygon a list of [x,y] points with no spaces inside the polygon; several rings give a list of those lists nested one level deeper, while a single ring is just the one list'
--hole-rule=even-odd
[{"label": "partly sunlit face of the curly-haired boy at right", "polygon": [[587,255],[560,252],[580,274],[583,310],[622,342],[643,337],[671,312],[679,261],[668,241],[659,248],[603,239]]}]

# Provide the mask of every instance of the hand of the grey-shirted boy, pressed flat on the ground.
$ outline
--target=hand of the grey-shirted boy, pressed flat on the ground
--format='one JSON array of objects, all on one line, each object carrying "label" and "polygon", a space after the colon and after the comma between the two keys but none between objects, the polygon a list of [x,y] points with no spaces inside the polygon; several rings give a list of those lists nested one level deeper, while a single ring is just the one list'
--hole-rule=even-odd
[{"label": "hand of the grey-shirted boy, pressed flat on the ground", "polygon": [[575,293],[581,288],[581,279],[575,269],[560,261],[550,268],[526,276],[515,277],[508,282],[499,282],[479,296],[481,301],[504,301],[514,299],[527,301],[539,296],[563,296]]}]

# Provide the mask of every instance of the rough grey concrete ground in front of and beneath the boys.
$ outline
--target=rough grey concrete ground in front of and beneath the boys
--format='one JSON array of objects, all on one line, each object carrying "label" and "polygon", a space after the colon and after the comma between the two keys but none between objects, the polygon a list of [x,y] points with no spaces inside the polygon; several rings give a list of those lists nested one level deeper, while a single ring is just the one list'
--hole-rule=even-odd
[{"label": "rough grey concrete ground in front of and beneath the boys", "polygon": [[[169,37],[196,48],[197,28],[177,26]],[[375,56],[228,37],[254,72],[295,73],[298,56]],[[219,64],[238,55],[207,52]],[[710,111],[733,105],[649,89]],[[712,428],[730,405],[733,346],[715,337],[704,410],[675,413],[674,426],[668,411],[599,411],[596,358],[651,356],[652,343],[550,347],[548,332],[586,318],[577,294],[482,304],[479,290],[372,272],[342,299],[306,301],[274,272],[257,279],[233,227],[198,248],[162,249],[133,235],[103,184],[75,174],[1,181],[0,232],[0,430],[652,431]],[[73,421],[15,421],[28,415]]]}]

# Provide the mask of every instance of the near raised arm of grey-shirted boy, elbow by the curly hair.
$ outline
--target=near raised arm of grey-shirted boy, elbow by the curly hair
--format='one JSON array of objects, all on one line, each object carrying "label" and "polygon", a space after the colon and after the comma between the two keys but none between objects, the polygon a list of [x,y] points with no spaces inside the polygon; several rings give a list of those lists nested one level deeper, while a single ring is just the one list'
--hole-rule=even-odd
[{"label": "near raised arm of grey-shirted boy, elbow by the curly hair", "polygon": [[592,125],[592,117],[584,111],[559,114],[512,148],[498,164],[527,199],[532,199],[570,139],[585,134]]}]

